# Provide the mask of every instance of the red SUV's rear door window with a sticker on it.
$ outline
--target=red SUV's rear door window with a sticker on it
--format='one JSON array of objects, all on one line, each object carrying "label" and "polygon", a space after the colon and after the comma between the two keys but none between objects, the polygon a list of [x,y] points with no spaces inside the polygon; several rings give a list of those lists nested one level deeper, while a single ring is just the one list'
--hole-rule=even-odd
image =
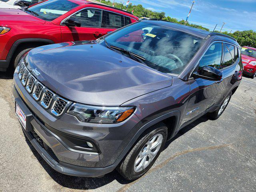
[{"label": "red SUV's rear door window with a sticker on it", "polygon": [[107,28],[121,28],[124,26],[124,16],[106,11]]}]

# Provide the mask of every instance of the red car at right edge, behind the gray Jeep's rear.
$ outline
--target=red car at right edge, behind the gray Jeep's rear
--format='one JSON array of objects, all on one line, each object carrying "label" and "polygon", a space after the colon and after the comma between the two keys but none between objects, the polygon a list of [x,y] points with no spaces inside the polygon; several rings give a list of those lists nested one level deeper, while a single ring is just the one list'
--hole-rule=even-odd
[{"label": "red car at right edge, behind the gray Jeep's rear", "polygon": [[241,49],[244,72],[250,78],[256,77],[256,48],[244,46]]}]

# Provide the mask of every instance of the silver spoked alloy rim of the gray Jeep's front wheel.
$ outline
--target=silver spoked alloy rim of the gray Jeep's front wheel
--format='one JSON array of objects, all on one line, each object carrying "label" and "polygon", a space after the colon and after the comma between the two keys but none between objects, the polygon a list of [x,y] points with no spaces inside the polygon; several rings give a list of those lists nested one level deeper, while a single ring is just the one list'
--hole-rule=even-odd
[{"label": "silver spoked alloy rim of the gray Jeep's front wheel", "polygon": [[163,142],[162,134],[156,134],[148,140],[148,142],[144,145],[140,153],[136,157],[134,163],[134,171],[140,172],[144,170],[156,157],[156,154],[161,148]]}]

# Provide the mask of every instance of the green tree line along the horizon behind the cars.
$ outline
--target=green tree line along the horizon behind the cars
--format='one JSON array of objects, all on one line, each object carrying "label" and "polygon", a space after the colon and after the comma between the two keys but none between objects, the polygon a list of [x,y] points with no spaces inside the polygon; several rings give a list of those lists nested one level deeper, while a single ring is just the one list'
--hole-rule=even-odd
[{"label": "green tree line along the horizon behind the cars", "polygon": [[[102,2],[108,6],[112,6],[113,5],[113,0],[97,0],[98,2]],[[119,9],[126,9],[126,2],[124,2],[124,4],[118,3],[118,2],[114,2],[114,6],[115,8],[119,8]],[[127,11],[128,12],[132,12],[132,10],[134,11],[134,15],[137,16],[138,18],[141,17],[147,17],[147,18],[155,18],[155,19],[162,19],[162,20],[166,20],[169,22],[174,22],[174,23],[178,23],[178,24],[185,24],[185,20],[177,20],[176,18],[171,18],[170,16],[165,15],[165,12],[156,12],[156,11],[152,11],[152,10],[148,10],[146,8],[144,8],[141,4],[138,5],[133,5],[133,4],[129,4]],[[194,28],[199,28],[202,30],[206,30],[206,31],[210,31],[208,28],[205,28],[201,25],[196,25],[196,24],[191,24],[191,23],[186,23],[187,26],[191,26]],[[214,31],[214,32],[219,32],[219,31]],[[241,45],[241,46],[251,46],[251,47],[255,47],[256,48],[256,32],[253,30],[244,30],[244,31],[235,31],[233,33],[229,33],[229,32],[222,32],[223,34],[232,36],[233,38],[235,38],[237,40],[237,42]]]}]

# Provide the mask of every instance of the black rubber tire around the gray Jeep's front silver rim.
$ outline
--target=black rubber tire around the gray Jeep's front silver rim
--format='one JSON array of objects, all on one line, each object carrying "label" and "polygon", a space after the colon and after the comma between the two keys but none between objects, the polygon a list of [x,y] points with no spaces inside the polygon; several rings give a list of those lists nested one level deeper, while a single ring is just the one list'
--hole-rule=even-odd
[{"label": "black rubber tire around the gray Jeep's front silver rim", "polygon": [[[148,140],[152,136],[154,136],[155,134],[159,134],[159,133],[162,134],[163,141],[162,141],[162,144],[161,144],[161,148],[158,151],[157,155],[155,156],[154,160],[152,160],[152,162],[150,162],[150,164],[144,170],[142,170],[141,172],[135,172],[134,171],[134,162],[135,162],[140,150],[142,149],[142,147],[148,142]],[[161,126],[161,127],[157,128],[157,129],[155,129],[152,132],[147,134],[146,138],[144,138],[144,141],[136,149],[136,152],[134,154],[132,154],[132,158],[130,159],[130,162],[128,164],[128,167],[129,167],[128,174],[129,174],[130,178],[132,178],[132,179],[140,178],[151,168],[151,166],[154,164],[154,162],[158,158],[159,154],[162,152],[162,150],[164,148],[164,145],[165,145],[165,142],[166,142],[166,139],[167,139],[167,127],[165,127],[165,126]]]}]

